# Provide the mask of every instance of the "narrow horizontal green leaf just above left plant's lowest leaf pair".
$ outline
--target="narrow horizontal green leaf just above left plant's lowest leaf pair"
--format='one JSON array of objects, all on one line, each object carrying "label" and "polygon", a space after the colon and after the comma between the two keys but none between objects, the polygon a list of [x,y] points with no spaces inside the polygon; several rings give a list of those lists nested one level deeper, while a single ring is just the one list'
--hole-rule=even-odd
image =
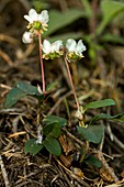
[{"label": "narrow horizontal green leaf just above left plant's lowest leaf pair", "polygon": [[46,116],[46,118],[43,121],[46,124],[59,123],[61,127],[67,124],[67,120],[65,118],[56,116]]}]

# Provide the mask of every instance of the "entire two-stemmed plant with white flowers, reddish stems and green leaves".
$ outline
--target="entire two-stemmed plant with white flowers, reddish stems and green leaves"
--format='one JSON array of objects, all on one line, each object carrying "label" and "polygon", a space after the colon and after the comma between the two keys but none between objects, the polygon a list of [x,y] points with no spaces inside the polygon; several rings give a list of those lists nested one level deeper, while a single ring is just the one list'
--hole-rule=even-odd
[{"label": "entire two-stemmed plant with white flowers, reddish stems and green leaves", "polygon": [[[46,116],[41,125],[40,116],[41,116],[41,106],[43,105],[47,95],[52,91],[50,89],[55,84],[46,86],[45,81],[45,73],[44,73],[44,62],[43,59],[54,59],[56,57],[60,57],[64,59],[68,77],[70,80],[74,98],[76,101],[77,110],[76,110],[76,119],[78,120],[77,124],[77,133],[79,138],[87,142],[92,142],[94,144],[100,144],[104,135],[104,127],[102,123],[97,124],[99,120],[121,120],[123,113],[117,116],[108,116],[105,113],[97,114],[92,117],[90,122],[86,124],[84,116],[86,111],[89,109],[97,109],[102,107],[114,106],[115,102],[112,99],[104,99],[100,101],[93,101],[88,103],[87,106],[80,106],[77,94],[75,90],[69,64],[75,63],[81,58],[83,58],[83,52],[86,51],[86,46],[82,43],[82,40],[79,40],[78,43],[74,38],[68,38],[66,45],[63,44],[61,40],[57,40],[54,43],[50,43],[48,40],[42,40],[42,35],[47,31],[48,26],[48,12],[47,10],[43,10],[40,14],[31,9],[29,11],[29,15],[24,15],[24,19],[29,21],[27,30],[23,36],[22,41],[26,44],[33,43],[35,37],[38,38],[38,50],[40,50],[40,63],[41,63],[41,72],[42,72],[42,87],[38,85],[34,87],[27,82],[20,81],[16,84],[14,88],[12,88],[5,98],[4,107],[10,108],[15,105],[20,99],[25,96],[34,97],[38,100],[37,105],[37,139],[31,139],[25,143],[24,152],[31,153],[33,155],[37,154],[43,147],[45,147],[48,152],[56,156],[61,155],[61,145],[58,141],[61,129],[68,124],[68,121],[64,118],[56,116]],[[88,153],[84,154],[84,157],[88,162]],[[84,161],[84,160],[83,160]],[[93,160],[94,161],[94,160]],[[97,163],[98,164],[98,163]]]}]

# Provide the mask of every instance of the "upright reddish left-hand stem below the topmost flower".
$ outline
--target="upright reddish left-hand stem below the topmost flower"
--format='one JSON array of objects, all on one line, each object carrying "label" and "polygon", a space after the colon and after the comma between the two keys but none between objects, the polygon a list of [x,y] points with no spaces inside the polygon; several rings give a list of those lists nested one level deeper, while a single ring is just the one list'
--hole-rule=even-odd
[{"label": "upright reddish left-hand stem below the topmost flower", "polygon": [[41,68],[42,68],[42,84],[43,84],[43,94],[46,94],[46,88],[45,88],[45,76],[44,76],[44,63],[42,58],[42,34],[38,33],[38,42],[40,42],[40,62],[41,62]]}]

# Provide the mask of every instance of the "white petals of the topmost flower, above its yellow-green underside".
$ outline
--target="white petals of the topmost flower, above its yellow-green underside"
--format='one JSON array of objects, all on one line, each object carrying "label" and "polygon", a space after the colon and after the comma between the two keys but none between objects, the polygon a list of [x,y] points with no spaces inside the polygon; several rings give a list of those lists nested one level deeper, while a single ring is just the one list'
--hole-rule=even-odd
[{"label": "white petals of the topmost flower, above its yellow-green underside", "polygon": [[43,10],[38,14],[34,9],[31,9],[29,11],[29,15],[24,15],[24,19],[27,20],[30,23],[33,23],[34,21],[40,21],[41,23],[46,24],[48,22],[48,12],[47,10]]}]

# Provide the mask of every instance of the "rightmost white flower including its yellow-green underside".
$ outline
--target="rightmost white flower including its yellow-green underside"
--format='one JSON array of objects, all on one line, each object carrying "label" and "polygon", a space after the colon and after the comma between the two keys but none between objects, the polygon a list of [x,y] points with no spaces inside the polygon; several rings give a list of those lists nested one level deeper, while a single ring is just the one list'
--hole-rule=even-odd
[{"label": "rightmost white flower including its yellow-green underside", "polygon": [[82,40],[76,43],[74,38],[67,40],[66,48],[68,50],[67,56],[69,57],[69,59],[82,58],[82,52],[86,51],[86,46],[83,45]]}]

